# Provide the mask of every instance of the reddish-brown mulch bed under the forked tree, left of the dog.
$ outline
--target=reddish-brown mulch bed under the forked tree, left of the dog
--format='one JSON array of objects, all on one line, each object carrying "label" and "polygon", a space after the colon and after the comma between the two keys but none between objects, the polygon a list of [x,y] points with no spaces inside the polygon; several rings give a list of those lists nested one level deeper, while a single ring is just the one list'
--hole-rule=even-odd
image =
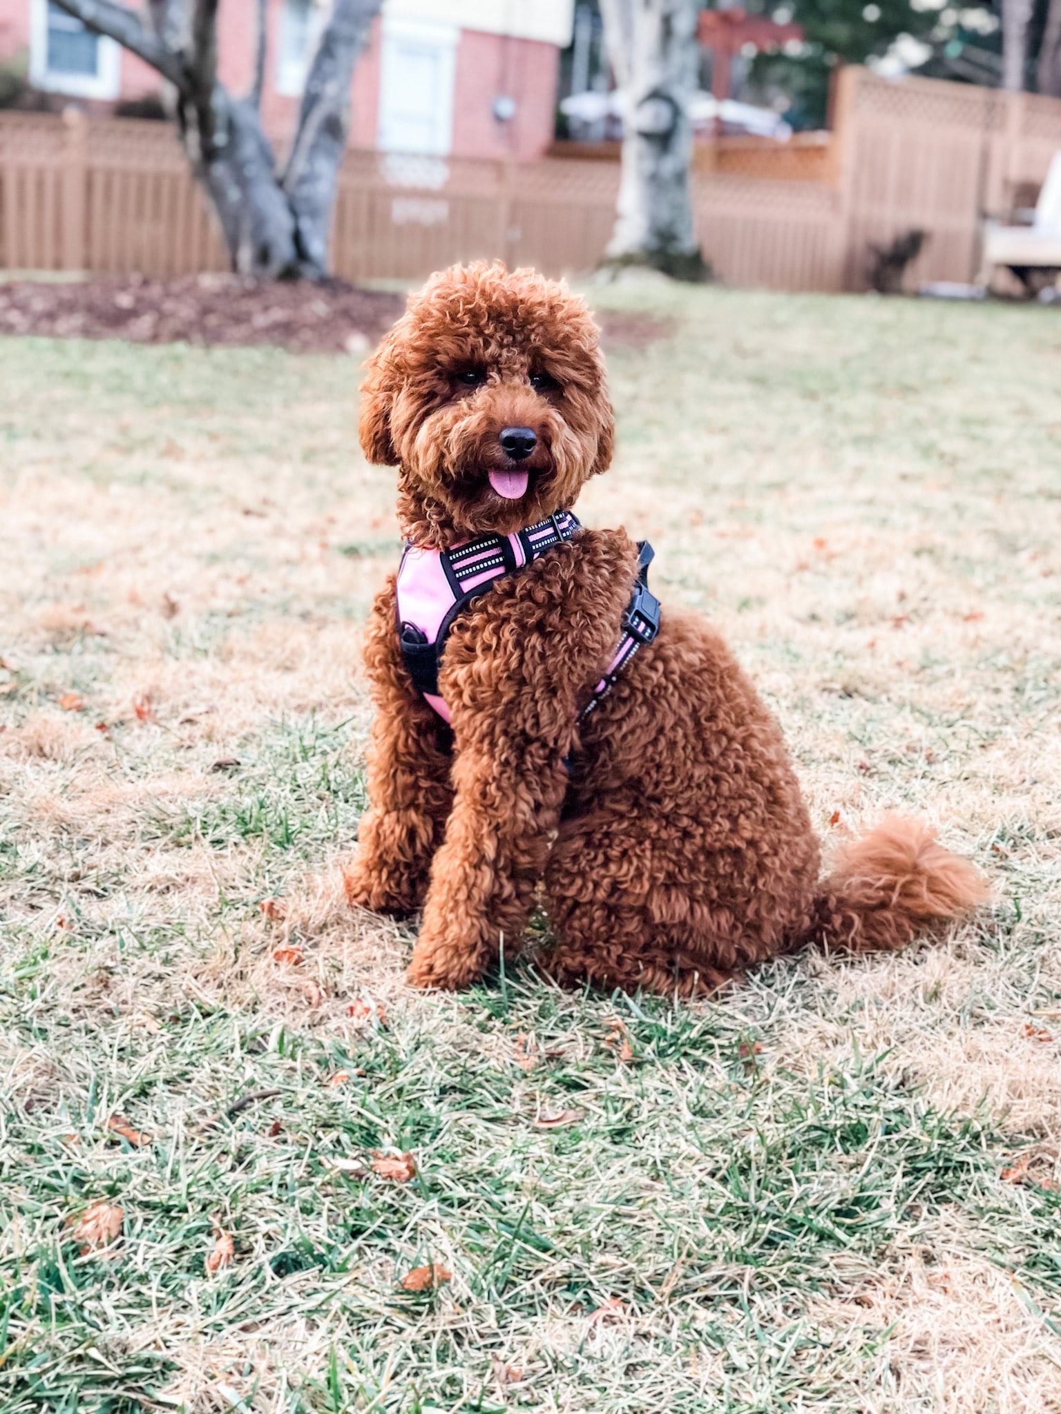
[{"label": "reddish-brown mulch bed under the forked tree, left of the dog", "polygon": [[274,283],[231,274],[0,284],[0,334],[133,344],[276,344],[297,354],[368,352],[405,297],[344,280]]}]

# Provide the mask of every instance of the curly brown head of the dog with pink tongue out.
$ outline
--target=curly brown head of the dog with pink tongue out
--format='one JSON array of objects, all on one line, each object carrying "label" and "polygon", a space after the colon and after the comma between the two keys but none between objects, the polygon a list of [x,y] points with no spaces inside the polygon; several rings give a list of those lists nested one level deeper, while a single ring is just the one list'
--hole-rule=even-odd
[{"label": "curly brown head of the dog with pink tongue out", "polygon": [[400,467],[398,515],[417,544],[543,520],[611,458],[597,327],[533,270],[433,276],[368,369],[361,445]]}]

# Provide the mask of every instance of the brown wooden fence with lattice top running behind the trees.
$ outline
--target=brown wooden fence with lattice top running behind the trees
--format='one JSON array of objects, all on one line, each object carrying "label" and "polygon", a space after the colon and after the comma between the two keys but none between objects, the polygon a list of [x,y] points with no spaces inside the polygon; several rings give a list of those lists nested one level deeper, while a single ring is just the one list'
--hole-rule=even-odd
[{"label": "brown wooden fence with lattice top running behind the trees", "polygon": [[[705,255],[733,284],[860,288],[867,246],[928,232],[912,280],[975,274],[980,214],[1043,181],[1061,147],[1061,100],[965,85],[840,75],[828,160],[791,177],[695,173]],[[738,148],[734,148],[738,151]],[[760,164],[761,167],[761,164]],[[796,173],[796,168],[799,171]],[[774,164],[772,170],[778,170]],[[335,273],[419,279],[502,256],[550,273],[591,269],[611,230],[618,164],[533,164],[351,151],[332,228]],[[164,123],[0,115],[0,269],[226,269],[224,246]]]}]

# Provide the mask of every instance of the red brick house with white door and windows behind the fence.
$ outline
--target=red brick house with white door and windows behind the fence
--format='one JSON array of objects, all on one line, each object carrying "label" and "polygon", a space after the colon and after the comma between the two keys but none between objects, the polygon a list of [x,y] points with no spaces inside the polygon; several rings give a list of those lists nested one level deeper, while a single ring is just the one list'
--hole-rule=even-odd
[{"label": "red brick house with white door and windows behind the fence", "polygon": [[[266,129],[283,141],[327,0],[267,0]],[[351,144],[454,157],[538,157],[553,137],[574,0],[385,0],[352,88]],[[255,0],[221,0],[219,68],[249,88]],[[0,0],[0,64],[92,107],[158,90],[158,76],[51,0]]]}]

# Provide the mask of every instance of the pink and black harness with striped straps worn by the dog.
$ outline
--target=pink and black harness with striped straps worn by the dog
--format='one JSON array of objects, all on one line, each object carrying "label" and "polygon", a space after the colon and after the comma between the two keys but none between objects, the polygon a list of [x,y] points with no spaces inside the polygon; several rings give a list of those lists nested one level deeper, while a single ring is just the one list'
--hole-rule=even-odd
[{"label": "pink and black harness with striped straps worn by the dog", "polygon": [[[426,550],[407,544],[398,570],[398,638],[402,659],[413,680],[444,721],[450,708],[439,693],[439,667],[453,621],[471,600],[506,574],[515,574],[553,546],[570,540],[581,525],[570,510],[509,536],[482,534],[451,550]],[[608,670],[583,708],[589,715],[615,683],[620,672],[644,643],[659,632],[659,601],[648,591],[652,546],[638,542],[639,575],[622,615],[622,631]]]}]

